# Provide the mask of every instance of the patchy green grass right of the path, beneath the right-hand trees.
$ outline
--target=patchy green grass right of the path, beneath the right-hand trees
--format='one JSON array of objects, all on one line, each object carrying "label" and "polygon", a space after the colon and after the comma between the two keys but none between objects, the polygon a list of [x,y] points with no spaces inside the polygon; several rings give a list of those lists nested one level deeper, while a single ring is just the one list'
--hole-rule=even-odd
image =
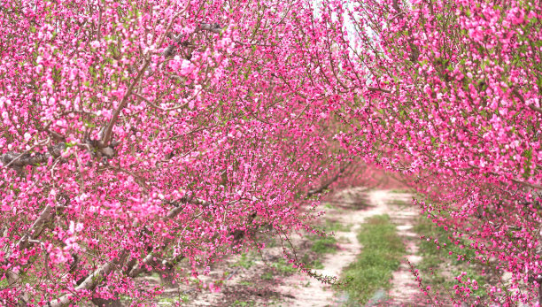
[{"label": "patchy green grass right of the path, beneath the right-hand trees", "polygon": [[[420,218],[417,224],[414,226],[414,231],[418,234],[430,236],[432,240],[422,240],[419,244],[418,253],[422,256],[422,261],[416,265],[416,268],[420,270],[422,279],[432,288],[438,292],[449,292],[453,295],[453,285],[456,284],[453,276],[457,276],[460,272],[466,272],[466,279],[476,280],[478,288],[471,289],[474,297],[484,297],[487,295],[484,284],[487,283],[484,276],[480,274],[480,268],[476,265],[469,264],[467,260],[458,260],[457,255],[464,255],[466,259],[473,258],[475,256],[474,250],[464,248],[461,249],[461,245],[468,246],[468,242],[455,245],[448,239],[449,232],[446,232],[444,227],[435,226],[427,219]],[[439,244],[443,246],[446,244],[446,248],[437,249],[437,246],[433,242],[438,240]],[[450,255],[452,251],[452,255]],[[448,264],[446,267],[443,265]],[[443,269],[448,271],[448,274],[443,272]]]}]

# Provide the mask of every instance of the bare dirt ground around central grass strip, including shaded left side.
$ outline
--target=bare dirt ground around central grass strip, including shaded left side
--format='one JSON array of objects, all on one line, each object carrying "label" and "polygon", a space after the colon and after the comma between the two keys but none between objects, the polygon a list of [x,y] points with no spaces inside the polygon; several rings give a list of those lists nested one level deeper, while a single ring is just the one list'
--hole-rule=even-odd
[{"label": "bare dirt ground around central grass strip, including shaded left side", "polygon": [[[298,255],[305,255],[306,263],[314,265],[315,272],[338,276],[346,265],[355,260],[362,246],[357,240],[360,224],[365,219],[388,214],[404,238],[407,259],[417,263],[415,256],[418,238],[412,228],[416,211],[409,205],[411,196],[393,190],[350,188],[337,193],[329,201],[326,219],[327,231],[335,233],[335,240],[321,242],[311,236],[294,236],[291,241],[298,247]],[[323,245],[322,245],[323,244]],[[323,248],[322,248],[323,247]],[[221,292],[212,293],[203,283],[168,288],[159,298],[159,305],[185,304],[190,306],[341,306],[348,295],[337,293],[329,285],[306,275],[296,273],[282,258],[282,249],[273,242],[262,255],[251,253],[232,257],[211,269],[208,281],[223,280]],[[159,277],[141,279],[150,285],[159,285]],[[207,282],[208,282],[207,281]],[[421,305],[417,297],[420,290],[404,261],[394,272],[391,291],[376,293],[375,303],[382,305]],[[205,280],[204,280],[205,283]]]}]

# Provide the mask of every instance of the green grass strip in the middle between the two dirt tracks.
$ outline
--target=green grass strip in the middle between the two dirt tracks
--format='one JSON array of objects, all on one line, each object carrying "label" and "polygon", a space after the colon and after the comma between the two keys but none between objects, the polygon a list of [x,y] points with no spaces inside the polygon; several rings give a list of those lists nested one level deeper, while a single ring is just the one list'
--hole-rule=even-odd
[{"label": "green grass strip in the middle between the two dirt tracks", "polygon": [[392,273],[405,254],[403,244],[388,215],[368,219],[361,226],[358,240],[363,245],[356,261],[343,272],[345,290],[351,303],[367,303],[376,290],[390,288]]}]

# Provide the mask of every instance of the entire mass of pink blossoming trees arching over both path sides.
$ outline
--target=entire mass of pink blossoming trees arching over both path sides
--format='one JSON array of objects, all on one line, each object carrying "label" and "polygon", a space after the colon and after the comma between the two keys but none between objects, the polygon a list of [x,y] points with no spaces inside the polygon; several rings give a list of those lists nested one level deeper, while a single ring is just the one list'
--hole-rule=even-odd
[{"label": "entire mass of pink blossoming trees arching over both path sides", "polygon": [[306,227],[358,157],[532,302],[540,5],[0,1],[0,299],[152,297],[142,272]]}]

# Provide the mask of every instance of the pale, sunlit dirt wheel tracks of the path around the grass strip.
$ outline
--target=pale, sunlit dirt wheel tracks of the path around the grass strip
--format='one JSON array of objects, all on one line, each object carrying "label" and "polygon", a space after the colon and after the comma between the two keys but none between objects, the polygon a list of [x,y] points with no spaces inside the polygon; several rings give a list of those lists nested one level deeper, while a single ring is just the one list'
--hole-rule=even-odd
[{"label": "pale, sunlit dirt wheel tracks of the path around the grass strip", "polygon": [[[357,207],[360,207],[361,194],[368,196],[368,206],[352,210],[352,206],[356,207],[356,204],[358,204]],[[346,207],[347,210],[329,211],[326,217],[336,219],[344,225],[352,225],[352,227],[347,232],[336,233],[339,242],[344,243],[340,243],[340,249],[336,254],[328,255],[322,260],[324,269],[317,270],[317,272],[329,276],[339,276],[345,266],[352,263],[362,249],[357,240],[360,225],[365,219],[380,214],[390,215],[391,220],[398,225],[399,234],[406,242],[408,260],[413,263],[420,260],[415,256],[417,247],[412,240],[416,237],[412,228],[417,213],[413,207],[406,205],[410,202],[410,195],[391,193],[390,190],[374,190],[367,193],[363,188],[352,188],[340,192],[337,198],[337,203],[345,204],[342,207]],[[394,272],[392,283],[389,298],[394,304],[412,303],[412,297],[419,292],[406,261],[401,264],[398,272]],[[299,275],[293,275],[283,280],[279,292],[293,296],[284,302],[289,306],[338,306],[345,303],[347,299],[344,295],[337,297],[328,285]]]}]

